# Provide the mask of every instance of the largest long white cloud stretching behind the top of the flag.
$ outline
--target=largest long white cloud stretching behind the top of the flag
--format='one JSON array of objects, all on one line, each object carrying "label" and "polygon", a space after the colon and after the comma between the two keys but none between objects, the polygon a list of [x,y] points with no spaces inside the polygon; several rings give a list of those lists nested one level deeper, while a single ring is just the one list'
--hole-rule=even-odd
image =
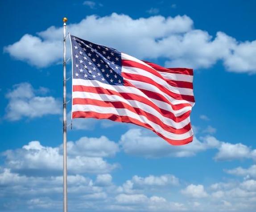
[{"label": "largest long white cloud stretching behind the top of the flag", "polygon": [[[93,7],[94,2],[90,5]],[[154,8],[149,11],[157,12]],[[95,25],[97,27],[93,27]],[[104,17],[92,15],[79,23],[69,24],[68,28],[78,37],[120,49],[140,59],[165,58],[166,66],[209,68],[222,61],[228,71],[256,71],[253,58],[256,41],[237,41],[223,32],[213,37],[206,31],[193,29],[193,21],[188,16],[132,19],[116,13]],[[62,28],[52,26],[37,36],[24,35],[20,41],[4,47],[4,51],[31,65],[46,67],[61,61],[61,38]]]}]

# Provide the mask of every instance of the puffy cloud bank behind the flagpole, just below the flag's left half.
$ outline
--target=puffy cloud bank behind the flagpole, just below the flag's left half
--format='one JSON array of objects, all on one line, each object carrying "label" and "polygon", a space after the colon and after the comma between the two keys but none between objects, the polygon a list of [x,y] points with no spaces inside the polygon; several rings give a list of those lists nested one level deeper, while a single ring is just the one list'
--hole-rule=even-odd
[{"label": "puffy cloud bank behind the flagpole, just below the flag's left half", "polygon": [[[103,150],[97,146],[101,143],[101,139],[106,141],[104,146],[107,146]],[[85,141],[89,142],[83,144]],[[95,145],[91,141],[95,141]],[[78,140],[77,143],[69,142],[67,146],[70,149],[67,160],[70,173],[108,173],[117,167],[117,164],[109,164],[102,158],[113,155],[117,150],[115,144],[104,137],[99,140],[84,138]],[[97,147],[99,147],[98,150]],[[81,151],[78,151],[79,148]],[[88,152],[83,152],[83,149]],[[107,153],[107,151],[110,152]],[[56,171],[57,173],[62,171],[62,146],[45,147],[39,141],[32,141],[21,149],[8,150],[2,155],[5,157],[6,166],[16,171],[44,170],[44,172]]]}]

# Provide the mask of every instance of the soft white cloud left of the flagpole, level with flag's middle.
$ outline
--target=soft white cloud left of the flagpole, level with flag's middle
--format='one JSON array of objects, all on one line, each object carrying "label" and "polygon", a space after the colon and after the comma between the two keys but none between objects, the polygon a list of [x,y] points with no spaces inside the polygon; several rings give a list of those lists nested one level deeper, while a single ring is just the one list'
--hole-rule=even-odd
[{"label": "soft white cloud left of the flagpole, level with flag's middle", "polygon": [[47,114],[61,114],[62,103],[52,96],[37,96],[45,94],[46,88],[34,89],[29,83],[13,86],[6,94],[8,105],[5,118],[17,121],[23,117],[36,118]]}]

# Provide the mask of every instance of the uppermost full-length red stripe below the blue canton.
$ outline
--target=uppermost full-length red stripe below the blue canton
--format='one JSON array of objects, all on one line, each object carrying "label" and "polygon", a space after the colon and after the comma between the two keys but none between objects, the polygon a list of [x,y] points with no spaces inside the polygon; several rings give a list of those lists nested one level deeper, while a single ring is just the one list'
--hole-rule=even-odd
[{"label": "uppermost full-length red stripe below the blue canton", "polygon": [[[120,96],[120,97],[122,97],[124,99],[136,100],[138,102],[142,102],[142,103],[145,103],[145,104],[153,107],[155,110],[157,110],[163,116],[165,116],[167,118],[173,119],[174,122],[181,122],[182,120],[187,118],[189,116],[189,113],[190,113],[190,111],[188,111],[188,112],[186,112],[186,113],[176,117],[171,111],[159,108],[159,106],[155,105],[153,102],[149,101],[148,99],[146,99],[146,98],[144,98],[144,97],[142,97],[140,95],[116,92],[114,90],[108,90],[108,89],[104,89],[104,88],[101,88],[101,87],[73,86],[73,91],[91,92],[91,93],[95,93],[95,94],[117,95],[117,96]],[[146,95],[149,96],[149,95],[152,95],[152,93],[148,92]],[[157,95],[159,95],[159,94],[155,94],[155,98],[157,97]],[[160,100],[160,98],[158,98],[158,100]],[[180,104],[180,105],[174,105],[174,106],[170,105],[170,107],[172,107],[173,110],[180,110],[180,109],[182,109],[185,106],[191,106],[191,105],[190,104]]]}]

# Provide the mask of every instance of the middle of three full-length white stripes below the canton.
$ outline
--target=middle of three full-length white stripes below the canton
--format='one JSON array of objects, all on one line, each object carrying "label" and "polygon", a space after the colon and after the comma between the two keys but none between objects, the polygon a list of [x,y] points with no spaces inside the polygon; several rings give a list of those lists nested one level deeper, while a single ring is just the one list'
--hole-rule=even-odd
[{"label": "middle of three full-length white stripes below the canton", "polygon": [[120,96],[117,95],[108,95],[108,94],[95,94],[95,93],[89,93],[89,92],[80,92],[76,91],[73,92],[73,98],[89,98],[89,99],[95,99],[99,101],[110,101],[110,102],[124,102],[128,104],[129,106],[132,106],[134,108],[139,108],[141,110],[144,110],[145,112],[148,112],[149,114],[152,114],[160,119],[160,121],[167,125],[172,126],[175,129],[182,129],[184,126],[190,123],[190,118],[187,117],[186,119],[182,120],[181,122],[175,122],[171,118],[167,118],[163,116],[161,113],[159,113],[157,110],[155,110],[153,107],[144,104],[142,102],[138,102],[136,100],[126,100]]}]

